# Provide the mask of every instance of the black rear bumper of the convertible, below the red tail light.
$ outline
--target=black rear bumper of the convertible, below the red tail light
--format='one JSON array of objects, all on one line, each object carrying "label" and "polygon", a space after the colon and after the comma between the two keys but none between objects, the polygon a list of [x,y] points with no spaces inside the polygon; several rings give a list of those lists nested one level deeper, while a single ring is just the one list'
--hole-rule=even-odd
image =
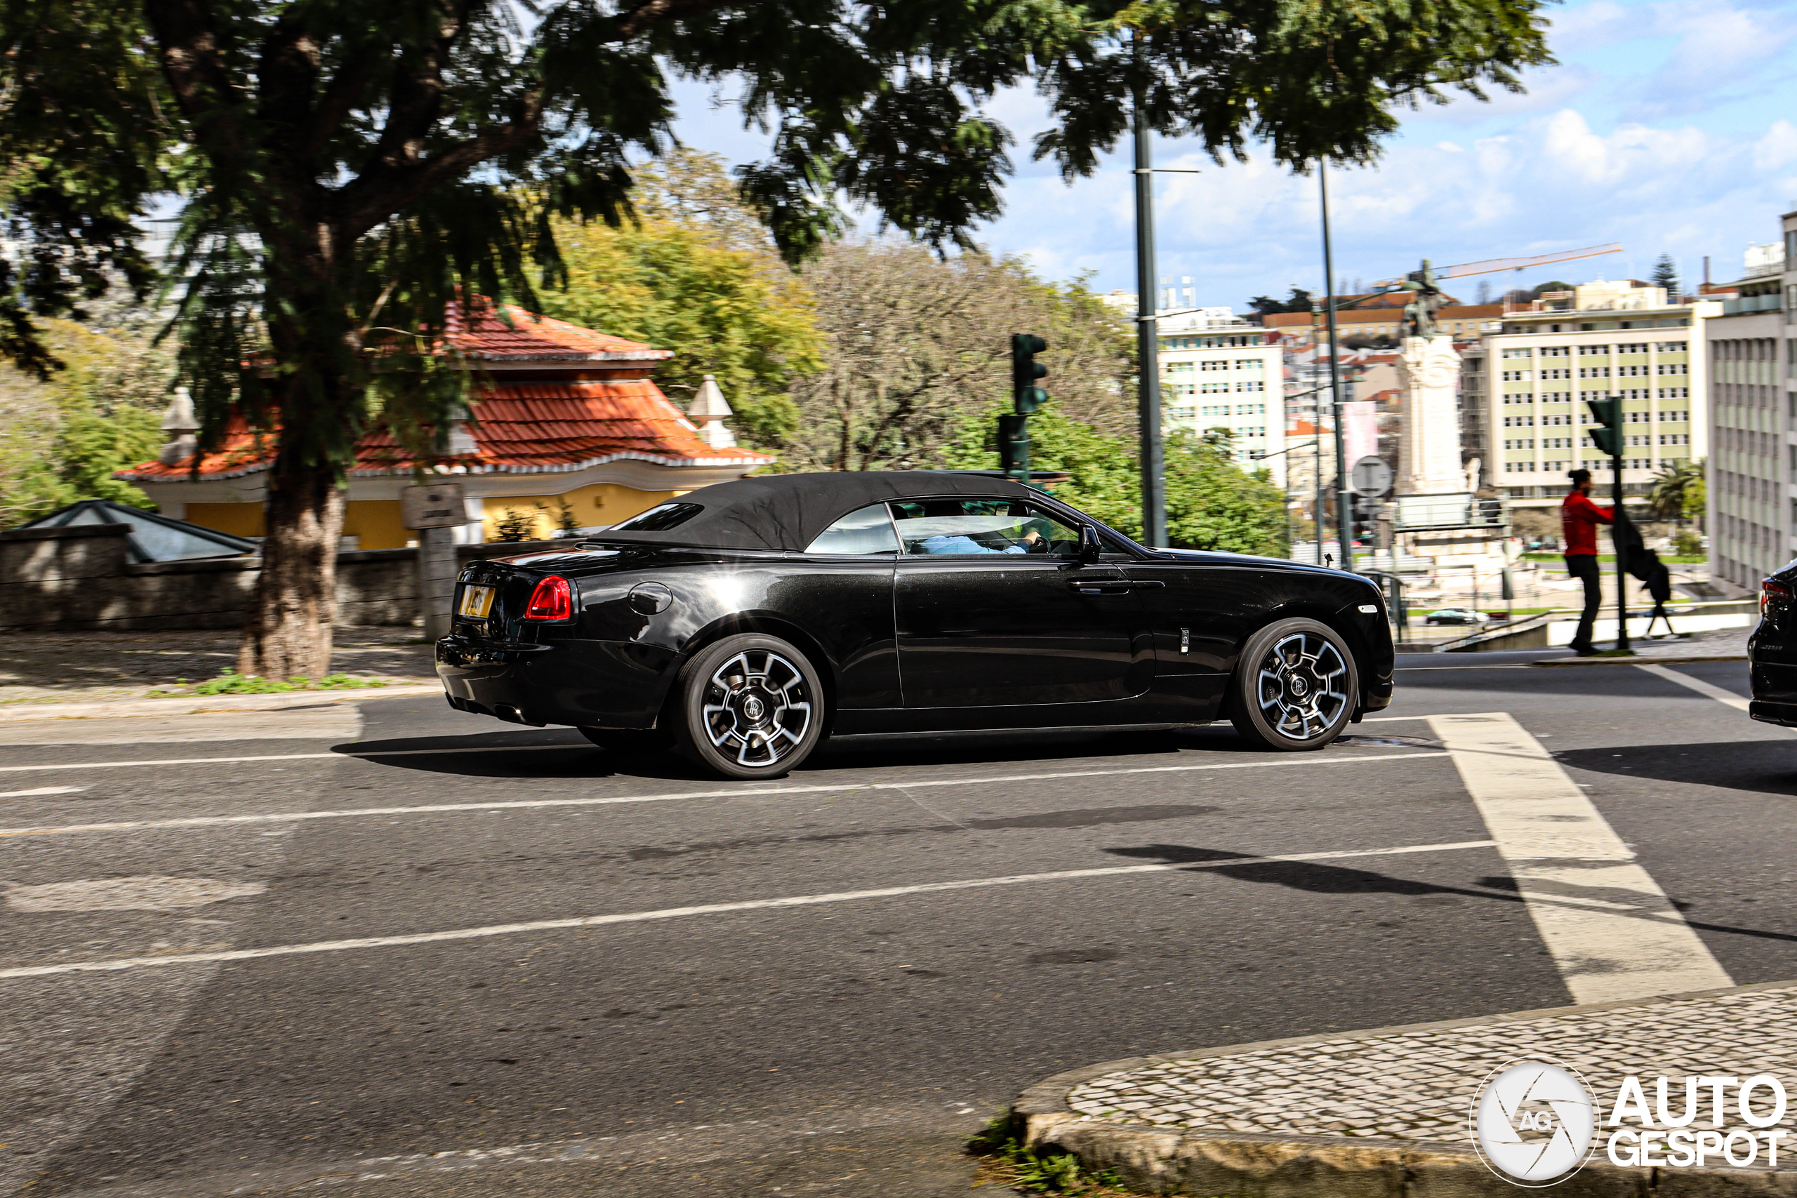
[{"label": "black rear bumper of the convertible, below the red tail light", "polygon": [[437,641],[449,706],[512,724],[654,727],[674,654],[627,641]]}]

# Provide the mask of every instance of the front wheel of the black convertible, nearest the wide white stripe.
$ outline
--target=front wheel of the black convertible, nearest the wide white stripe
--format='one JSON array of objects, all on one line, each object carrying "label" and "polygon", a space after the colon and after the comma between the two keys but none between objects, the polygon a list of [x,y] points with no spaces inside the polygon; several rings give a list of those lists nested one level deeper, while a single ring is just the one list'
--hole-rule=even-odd
[{"label": "front wheel of the black convertible, nearest the wide white stripe", "polygon": [[1359,702],[1353,654],[1315,620],[1279,620],[1247,638],[1229,679],[1229,722],[1274,753],[1321,749],[1342,735]]}]

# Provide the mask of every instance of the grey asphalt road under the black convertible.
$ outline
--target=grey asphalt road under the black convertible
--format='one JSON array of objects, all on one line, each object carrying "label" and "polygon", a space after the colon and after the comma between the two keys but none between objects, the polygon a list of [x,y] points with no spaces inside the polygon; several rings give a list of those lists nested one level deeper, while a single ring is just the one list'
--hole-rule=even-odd
[{"label": "grey asphalt road under the black convertible", "polygon": [[435,699],[0,724],[0,1194],[965,1194],[1053,1072],[1567,1004],[1430,715],[1513,717],[1729,979],[1797,977],[1797,736],[1536,656],[1405,657],[1319,754],[757,785]]}]

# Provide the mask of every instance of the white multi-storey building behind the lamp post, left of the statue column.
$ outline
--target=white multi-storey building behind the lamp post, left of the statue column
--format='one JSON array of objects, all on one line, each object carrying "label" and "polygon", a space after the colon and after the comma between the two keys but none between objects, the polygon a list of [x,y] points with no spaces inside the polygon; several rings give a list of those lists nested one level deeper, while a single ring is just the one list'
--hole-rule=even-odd
[{"label": "white multi-storey building behind the lamp post, left of the statue column", "polygon": [[1285,487],[1285,352],[1227,307],[1164,316],[1161,413],[1168,429],[1227,429],[1244,471]]}]

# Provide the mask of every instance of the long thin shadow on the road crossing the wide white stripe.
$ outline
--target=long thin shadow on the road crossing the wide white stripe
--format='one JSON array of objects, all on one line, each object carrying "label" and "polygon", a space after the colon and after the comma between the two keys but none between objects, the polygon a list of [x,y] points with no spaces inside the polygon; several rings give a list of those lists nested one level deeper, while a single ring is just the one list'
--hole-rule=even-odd
[{"label": "long thin shadow on the road crossing the wide white stripe", "polygon": [[[1143,844],[1136,848],[1107,848],[1112,857],[1132,857],[1138,860],[1154,860],[1170,866],[1190,864],[1193,873],[1220,873],[1226,878],[1235,878],[1238,882],[1256,882],[1261,885],[1283,885],[1292,891],[1305,891],[1310,894],[1398,894],[1403,898],[1483,898],[1488,902],[1500,903],[1524,903],[1526,900],[1518,893],[1515,878],[1509,876],[1483,876],[1475,878],[1472,885],[1443,885],[1439,882],[1418,882],[1414,878],[1398,878],[1389,873],[1378,873],[1375,869],[1355,869],[1351,866],[1330,866],[1314,860],[1265,860],[1253,857],[1249,853],[1236,853],[1231,850],[1217,848],[1195,848],[1190,844]],[[1218,862],[1240,862],[1240,864],[1218,864]],[[1475,889],[1477,887],[1477,889]],[[1560,902],[1563,900],[1563,902]],[[1569,911],[1590,911],[1590,900],[1601,900],[1614,903],[1616,894],[1612,891],[1592,889],[1589,894],[1580,894],[1578,887],[1567,887],[1562,896],[1554,894],[1531,894],[1527,902],[1545,907],[1565,907]],[[1687,903],[1673,902],[1673,907],[1684,911]],[[1653,920],[1662,921],[1669,916],[1662,916],[1653,911],[1616,911],[1633,920]],[[1722,932],[1727,936],[1748,936],[1754,939],[1777,939],[1786,943],[1797,943],[1797,934],[1790,932],[1772,932],[1766,929],[1736,927],[1729,923],[1704,923],[1700,920],[1686,918],[1686,923],[1700,932]]]}]

